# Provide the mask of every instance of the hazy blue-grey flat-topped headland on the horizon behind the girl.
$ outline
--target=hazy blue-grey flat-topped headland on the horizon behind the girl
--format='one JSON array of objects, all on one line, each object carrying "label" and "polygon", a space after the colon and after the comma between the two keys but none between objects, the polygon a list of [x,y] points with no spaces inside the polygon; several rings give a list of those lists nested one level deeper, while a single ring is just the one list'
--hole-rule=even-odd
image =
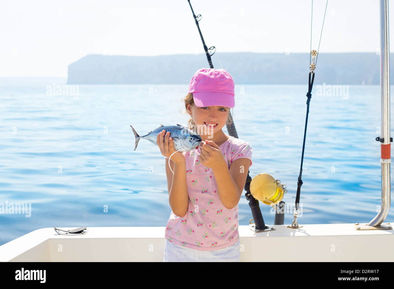
[{"label": "hazy blue-grey flat-topped headland on the horizon behind the girl", "polygon": [[[224,68],[238,84],[306,84],[309,53],[216,52],[215,68]],[[393,60],[393,57],[390,57]],[[393,65],[390,61],[391,66]],[[189,84],[208,67],[204,54],[160,56],[87,55],[68,66],[67,84]],[[379,85],[377,53],[319,53],[314,83]],[[391,74],[393,75],[393,74]],[[393,76],[390,77],[391,83]]]}]

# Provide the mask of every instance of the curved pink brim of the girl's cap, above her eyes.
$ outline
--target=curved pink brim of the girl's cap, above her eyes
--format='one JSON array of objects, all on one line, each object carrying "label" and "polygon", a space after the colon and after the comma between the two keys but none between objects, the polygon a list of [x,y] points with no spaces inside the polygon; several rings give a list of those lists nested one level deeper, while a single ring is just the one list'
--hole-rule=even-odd
[{"label": "curved pink brim of the girl's cap, above her eyes", "polygon": [[234,95],[227,92],[193,92],[193,101],[198,107],[209,107],[211,105],[235,106]]}]

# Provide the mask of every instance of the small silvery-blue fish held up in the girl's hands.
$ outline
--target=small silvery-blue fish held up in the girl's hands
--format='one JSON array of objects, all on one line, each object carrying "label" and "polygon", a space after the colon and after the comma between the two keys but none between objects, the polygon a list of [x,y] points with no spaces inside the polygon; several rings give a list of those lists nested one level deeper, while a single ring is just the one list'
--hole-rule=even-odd
[{"label": "small silvery-blue fish held up in the girl's hands", "polygon": [[136,130],[130,125],[131,129],[133,130],[134,136],[136,137],[136,142],[134,144],[134,151],[137,148],[138,142],[141,138],[145,138],[156,144],[157,136],[159,133],[163,131],[163,129],[170,132],[170,136],[173,140],[174,149],[176,151],[192,151],[196,149],[200,143],[202,142],[201,136],[195,133],[188,127],[184,127],[177,123],[177,125],[160,125],[157,129],[150,131],[148,134],[144,136],[139,136]]}]

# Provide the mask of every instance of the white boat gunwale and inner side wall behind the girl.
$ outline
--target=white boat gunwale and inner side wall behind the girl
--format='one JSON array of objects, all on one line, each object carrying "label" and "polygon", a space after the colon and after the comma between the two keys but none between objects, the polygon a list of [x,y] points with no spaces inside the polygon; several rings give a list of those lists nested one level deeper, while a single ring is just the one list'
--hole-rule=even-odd
[{"label": "white boat gunwale and inner side wall behind the girl", "polygon": [[[354,223],[270,227],[276,230],[255,233],[239,226],[241,261],[394,261],[393,230],[359,231]],[[35,230],[0,246],[0,261],[163,261],[165,227],[87,229],[80,236]]]}]

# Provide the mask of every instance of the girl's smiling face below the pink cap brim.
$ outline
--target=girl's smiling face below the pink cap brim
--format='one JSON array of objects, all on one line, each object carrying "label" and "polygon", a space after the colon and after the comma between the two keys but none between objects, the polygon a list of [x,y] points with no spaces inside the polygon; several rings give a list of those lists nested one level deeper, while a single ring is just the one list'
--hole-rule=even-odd
[{"label": "girl's smiling face below the pink cap brim", "polygon": [[[214,134],[220,131],[227,122],[229,115],[229,107],[223,107],[219,105],[213,105],[210,107],[198,107],[197,105],[188,105],[188,112],[193,117],[197,129],[200,128],[200,135],[204,132],[208,134]],[[214,124],[214,127],[210,127],[209,124]]]}]

